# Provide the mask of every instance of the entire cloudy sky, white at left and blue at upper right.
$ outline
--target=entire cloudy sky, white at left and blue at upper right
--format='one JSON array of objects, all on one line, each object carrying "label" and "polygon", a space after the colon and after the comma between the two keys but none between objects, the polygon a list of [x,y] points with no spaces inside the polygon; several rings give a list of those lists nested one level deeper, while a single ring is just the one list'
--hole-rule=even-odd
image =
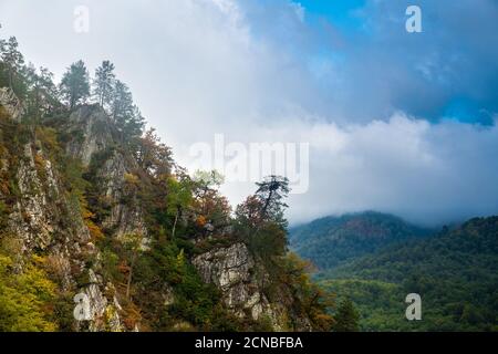
[{"label": "entire cloudy sky, white at left and blue at upper right", "polygon": [[[421,33],[405,29],[411,4]],[[79,6],[87,31],[75,31]],[[58,79],[80,59],[92,73],[111,60],[189,170],[193,147],[215,152],[217,136],[239,152],[308,144],[291,223],[498,214],[496,0],[0,0],[0,23]],[[236,205],[255,187],[221,190]]]}]

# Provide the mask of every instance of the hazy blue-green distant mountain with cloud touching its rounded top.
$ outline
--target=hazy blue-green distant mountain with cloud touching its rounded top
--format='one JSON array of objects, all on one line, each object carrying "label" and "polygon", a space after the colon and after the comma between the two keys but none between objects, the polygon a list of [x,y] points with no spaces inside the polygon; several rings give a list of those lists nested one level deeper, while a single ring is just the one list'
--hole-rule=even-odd
[{"label": "hazy blue-green distant mountain with cloud touching its rounded top", "polygon": [[392,215],[367,211],[325,217],[289,230],[290,247],[320,270],[328,270],[382,247],[428,236]]}]

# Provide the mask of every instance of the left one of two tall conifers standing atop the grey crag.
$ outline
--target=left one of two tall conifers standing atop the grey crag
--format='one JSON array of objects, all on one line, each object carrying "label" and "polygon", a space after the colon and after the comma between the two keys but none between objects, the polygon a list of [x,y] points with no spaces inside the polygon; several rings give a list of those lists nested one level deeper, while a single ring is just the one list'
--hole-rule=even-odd
[{"label": "left one of two tall conifers standing atop the grey crag", "polygon": [[62,76],[60,90],[71,110],[77,104],[85,102],[90,96],[89,71],[82,60],[72,63],[68,67],[68,71]]}]

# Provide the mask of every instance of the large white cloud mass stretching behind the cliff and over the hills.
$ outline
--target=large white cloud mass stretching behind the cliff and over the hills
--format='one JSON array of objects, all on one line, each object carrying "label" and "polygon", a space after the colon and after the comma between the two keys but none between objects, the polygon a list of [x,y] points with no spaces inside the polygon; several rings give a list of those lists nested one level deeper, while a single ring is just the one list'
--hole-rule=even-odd
[{"label": "large white cloud mass stretching behind the cliff and over the hills", "polygon": [[[217,133],[243,144],[309,142],[310,189],[291,197],[292,221],[364,209],[429,223],[498,212],[497,127],[430,125],[402,113],[360,124],[322,110],[330,93],[310,72],[310,53],[289,43],[312,42],[295,6],[279,8],[290,11],[289,33],[271,38],[257,31],[246,2],[232,0],[48,3],[0,0],[0,31],[59,76],[79,59],[92,69],[113,61],[181,164],[191,144]],[[90,8],[89,34],[73,32],[79,4]],[[238,202],[253,186],[224,191]]]}]

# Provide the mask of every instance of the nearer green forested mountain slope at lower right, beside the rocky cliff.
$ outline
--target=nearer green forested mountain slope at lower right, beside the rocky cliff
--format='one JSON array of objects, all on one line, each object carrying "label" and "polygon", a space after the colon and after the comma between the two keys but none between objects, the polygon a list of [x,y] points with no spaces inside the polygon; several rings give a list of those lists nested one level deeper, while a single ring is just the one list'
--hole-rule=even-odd
[{"label": "nearer green forested mountain slope at lower right, beside the rocky cliff", "polygon": [[[498,331],[498,217],[392,244],[318,275],[350,298],[365,331]],[[404,317],[408,293],[422,321]]]}]

